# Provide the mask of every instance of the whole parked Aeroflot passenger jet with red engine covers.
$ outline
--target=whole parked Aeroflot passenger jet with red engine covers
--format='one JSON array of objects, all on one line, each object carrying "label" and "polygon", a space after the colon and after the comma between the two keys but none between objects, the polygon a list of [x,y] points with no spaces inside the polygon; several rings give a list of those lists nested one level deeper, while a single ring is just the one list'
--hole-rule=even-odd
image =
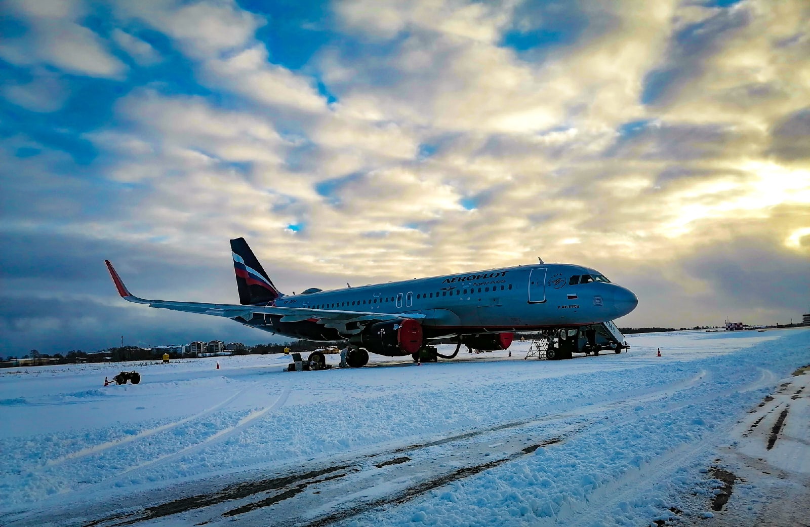
[{"label": "whole parked Aeroflot passenger jet with red engine covers", "polygon": [[354,367],[368,363],[369,351],[414,355],[434,338],[457,337],[459,345],[505,350],[514,331],[612,321],[638,304],[632,291],[596,270],[544,263],[284,295],[244,238],[231,240],[231,250],[240,304],[145,300],[130,294],[106,263],[125,300],[227,317],[292,338],[347,341],[352,348],[347,363]]}]

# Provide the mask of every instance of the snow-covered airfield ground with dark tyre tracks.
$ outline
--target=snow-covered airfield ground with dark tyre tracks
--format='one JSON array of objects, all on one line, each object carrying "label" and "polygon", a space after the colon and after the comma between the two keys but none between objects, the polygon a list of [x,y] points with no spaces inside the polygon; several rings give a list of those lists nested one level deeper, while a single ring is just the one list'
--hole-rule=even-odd
[{"label": "snow-covered airfield ground with dark tyre tracks", "polygon": [[[279,355],[0,370],[0,525],[808,517],[810,375],[791,373],[810,330],[627,340],[553,362],[515,342],[324,372]],[[143,380],[103,386],[122,370]]]}]

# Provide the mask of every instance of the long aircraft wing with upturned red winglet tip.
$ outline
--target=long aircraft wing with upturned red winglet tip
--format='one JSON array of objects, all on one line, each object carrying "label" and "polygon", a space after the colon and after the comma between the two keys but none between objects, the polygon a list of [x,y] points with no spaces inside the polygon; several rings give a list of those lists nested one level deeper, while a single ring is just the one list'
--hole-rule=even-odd
[{"label": "long aircraft wing with upturned red winglet tip", "polygon": [[[109,260],[104,260],[107,264],[110,276],[118,290],[118,294],[124,300],[136,304],[148,304],[150,308],[171,309],[173,311],[185,311],[201,313],[203,315],[213,315],[215,317],[237,318],[241,317],[249,321],[254,314],[280,315],[282,322],[317,321],[327,328],[338,329],[340,333],[359,333],[362,326],[370,321],[390,321],[403,318],[426,318],[422,313],[407,313],[403,317],[402,313],[381,313],[364,311],[344,311],[340,309],[310,309],[310,308],[282,308],[278,306],[254,306],[242,304],[206,304],[203,302],[178,302],[175,300],[149,300],[135,296],[126,288],[113,264]],[[347,324],[359,323],[359,329],[347,329]]]}]

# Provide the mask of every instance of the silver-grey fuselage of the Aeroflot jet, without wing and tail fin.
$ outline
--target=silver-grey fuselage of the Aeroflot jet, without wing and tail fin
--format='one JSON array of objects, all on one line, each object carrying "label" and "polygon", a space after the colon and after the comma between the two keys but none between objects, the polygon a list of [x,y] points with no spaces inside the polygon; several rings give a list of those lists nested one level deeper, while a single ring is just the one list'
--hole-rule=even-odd
[{"label": "silver-grey fuselage of the Aeroflot jet, without wing and tail fin", "polygon": [[[608,282],[596,270],[571,264],[505,267],[275,300],[275,306],[285,308],[428,315],[421,322],[424,338],[591,325],[622,317],[637,303],[629,289]],[[239,321],[291,338],[345,338],[316,320],[258,315]]]}]

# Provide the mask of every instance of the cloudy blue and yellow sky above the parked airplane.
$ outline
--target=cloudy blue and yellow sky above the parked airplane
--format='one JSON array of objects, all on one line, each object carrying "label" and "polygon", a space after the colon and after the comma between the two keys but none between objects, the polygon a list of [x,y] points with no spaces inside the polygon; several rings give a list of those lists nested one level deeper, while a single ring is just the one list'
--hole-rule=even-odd
[{"label": "cloudy blue and yellow sky above the parked airplane", "polygon": [[0,355],[269,334],[121,300],[566,261],[620,325],[810,305],[804,0],[3,0]]}]

